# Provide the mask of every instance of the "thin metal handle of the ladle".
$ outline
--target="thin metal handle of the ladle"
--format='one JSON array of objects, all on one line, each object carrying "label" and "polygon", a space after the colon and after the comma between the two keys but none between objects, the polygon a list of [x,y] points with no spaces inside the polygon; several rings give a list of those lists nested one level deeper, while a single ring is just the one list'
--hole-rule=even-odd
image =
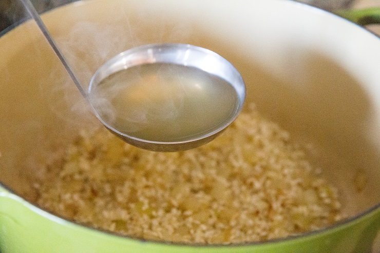
[{"label": "thin metal handle of the ladle", "polygon": [[70,77],[71,77],[72,81],[74,82],[74,84],[77,86],[77,88],[79,89],[79,91],[81,92],[81,94],[83,95],[83,97],[85,99],[87,99],[87,92],[82,88],[81,83],[79,82],[79,80],[75,76],[74,72],[72,71],[72,68],[70,68],[68,62],[66,61],[65,57],[61,53],[61,51],[58,48],[58,46],[55,44],[55,41],[53,40],[53,37],[49,33],[49,31],[48,31],[47,27],[45,26],[44,22],[41,20],[41,17],[37,13],[37,11],[35,10],[33,4],[29,0],[20,0],[20,1],[23,3],[25,9],[31,15],[31,17],[33,18],[33,20],[35,21],[35,23],[37,23],[37,26],[40,28],[40,30],[44,34],[46,40],[49,42],[50,46],[54,50],[54,53],[58,56],[58,58],[62,62],[63,66],[65,67],[67,73],[70,75]]}]

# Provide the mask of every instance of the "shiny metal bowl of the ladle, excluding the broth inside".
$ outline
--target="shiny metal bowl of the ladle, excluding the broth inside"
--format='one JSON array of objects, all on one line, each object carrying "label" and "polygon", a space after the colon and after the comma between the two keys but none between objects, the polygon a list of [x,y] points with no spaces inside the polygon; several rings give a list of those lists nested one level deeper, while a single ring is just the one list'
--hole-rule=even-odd
[{"label": "shiny metal bowl of the ladle, excluding the broth inside", "polygon": [[[156,63],[169,63],[198,68],[231,84],[236,92],[237,98],[235,108],[231,108],[232,113],[228,118],[224,119],[222,123],[216,122],[215,127],[209,131],[202,132],[201,135],[198,136],[193,135],[192,137],[180,141],[165,142],[144,140],[120,131],[120,129],[113,126],[111,122],[105,120],[93,106],[91,102],[91,92],[113,73],[134,66]],[[143,149],[166,152],[195,148],[215,139],[237,118],[241,111],[245,99],[245,84],[239,71],[229,61],[211,50],[187,44],[151,44],[122,52],[102,65],[91,79],[88,94],[93,111],[103,125],[111,132],[131,145]]]}]

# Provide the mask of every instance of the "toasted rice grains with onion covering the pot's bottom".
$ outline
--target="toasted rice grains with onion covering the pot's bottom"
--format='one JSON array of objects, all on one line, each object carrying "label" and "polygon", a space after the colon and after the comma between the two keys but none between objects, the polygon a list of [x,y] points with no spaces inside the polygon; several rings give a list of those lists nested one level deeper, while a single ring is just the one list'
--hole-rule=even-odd
[{"label": "toasted rice grains with onion covering the pot's bottom", "polygon": [[[159,153],[83,130],[31,182],[37,204],[121,235],[185,243],[266,241],[345,216],[290,134],[251,106],[216,140]],[[48,169],[47,169],[48,168]]]}]

